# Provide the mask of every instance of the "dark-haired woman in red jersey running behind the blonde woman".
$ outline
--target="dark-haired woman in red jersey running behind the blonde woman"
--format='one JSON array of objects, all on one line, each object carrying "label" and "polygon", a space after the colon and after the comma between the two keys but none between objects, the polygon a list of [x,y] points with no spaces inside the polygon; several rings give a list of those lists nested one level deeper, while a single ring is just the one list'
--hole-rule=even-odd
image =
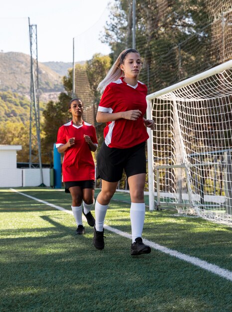
[{"label": "dark-haired woman in red jersey running behind the blonde woman", "polygon": [[84,234],[82,210],[88,224],[95,224],[90,212],[94,205],[95,186],[95,164],[91,152],[97,149],[97,137],[95,128],[82,119],[83,103],[80,99],[72,99],[68,110],[72,114],[72,120],[59,128],[56,148],[59,153],[64,153],[63,182],[65,192],[70,192],[72,196],[71,207],[77,224],[76,234]]}]

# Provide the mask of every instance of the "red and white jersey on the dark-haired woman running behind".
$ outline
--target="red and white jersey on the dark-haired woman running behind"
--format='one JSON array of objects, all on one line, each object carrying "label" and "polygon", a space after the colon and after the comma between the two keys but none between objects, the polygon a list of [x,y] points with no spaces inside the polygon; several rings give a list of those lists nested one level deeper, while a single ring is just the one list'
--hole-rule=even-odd
[{"label": "red and white jersey on the dark-haired woman running behind", "polygon": [[58,130],[56,148],[66,144],[70,138],[75,138],[75,144],[64,153],[62,164],[64,182],[95,179],[95,164],[84,135],[89,136],[97,146],[96,130],[86,122],[77,127],[70,121]]}]

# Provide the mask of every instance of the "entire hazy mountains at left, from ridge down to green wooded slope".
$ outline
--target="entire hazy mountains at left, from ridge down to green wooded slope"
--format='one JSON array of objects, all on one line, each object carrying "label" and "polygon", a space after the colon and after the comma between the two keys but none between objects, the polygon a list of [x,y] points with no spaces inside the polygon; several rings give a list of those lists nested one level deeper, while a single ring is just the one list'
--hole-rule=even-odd
[{"label": "entire hazy mountains at left, from ridge down to green wooded slope", "polygon": [[[30,116],[30,55],[20,52],[0,52],[0,123],[23,122]],[[57,101],[64,91],[62,76],[72,63],[38,62],[39,107],[50,100]],[[36,86],[35,86],[36,87]]]}]

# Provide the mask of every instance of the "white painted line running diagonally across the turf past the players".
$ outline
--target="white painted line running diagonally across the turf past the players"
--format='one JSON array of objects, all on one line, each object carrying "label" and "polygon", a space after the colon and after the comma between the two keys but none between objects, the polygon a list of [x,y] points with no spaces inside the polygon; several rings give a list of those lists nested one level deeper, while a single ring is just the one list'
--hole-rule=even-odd
[{"label": "white painted line running diagonally across the turf past the players", "polygon": [[[12,190],[13,192],[16,192],[18,194],[21,194],[23,196],[29,197],[29,198],[31,198],[33,200],[39,201],[39,202],[41,202],[41,203],[43,203],[45,205],[48,205],[50,207],[53,207],[55,209],[58,209],[58,210],[66,212],[66,213],[72,214],[71,210],[64,209],[64,208],[62,208],[60,206],[57,206],[57,205],[54,205],[54,204],[50,204],[47,201],[44,201],[44,200],[32,197],[30,195],[18,192],[14,188],[10,188],[10,190]],[[114,233],[116,233],[118,235],[121,235],[123,237],[131,239],[131,235],[126,233],[126,232],[122,232],[120,230],[117,230],[117,229],[115,229],[115,228],[113,228],[111,226],[105,225],[105,224],[104,224],[104,228],[106,230],[108,230],[108,231],[114,232]],[[145,244],[151,246],[152,248],[154,248],[156,250],[159,250],[159,251],[161,251],[161,252],[163,252],[165,254],[168,254],[168,255],[176,257],[178,259],[184,260],[184,261],[186,261],[188,263],[191,263],[191,264],[193,264],[193,265],[195,265],[197,267],[200,267],[200,268],[205,269],[205,270],[207,270],[209,272],[212,272],[212,273],[214,273],[216,275],[219,275],[220,277],[224,277],[225,279],[227,279],[229,281],[232,281],[232,271],[229,271],[229,270],[226,270],[226,269],[222,269],[222,268],[220,268],[219,266],[217,266],[215,264],[211,264],[211,263],[209,263],[207,261],[201,260],[201,259],[196,258],[196,257],[188,256],[186,254],[183,254],[183,253],[178,252],[176,250],[169,249],[169,248],[167,248],[165,246],[156,244],[156,243],[151,242],[151,241],[149,241],[147,239],[144,239],[144,238],[143,238],[143,242]]]}]

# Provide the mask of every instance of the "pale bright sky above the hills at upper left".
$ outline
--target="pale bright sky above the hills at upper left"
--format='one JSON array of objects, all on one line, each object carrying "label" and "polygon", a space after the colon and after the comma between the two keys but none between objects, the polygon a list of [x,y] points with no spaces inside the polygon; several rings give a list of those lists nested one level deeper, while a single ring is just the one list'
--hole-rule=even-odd
[{"label": "pale bright sky above the hills at upper left", "polygon": [[[0,5],[0,51],[30,54],[29,26],[37,27],[38,61],[90,59],[108,54],[100,43],[112,0],[4,0]],[[74,40],[73,40],[74,38]]]}]

